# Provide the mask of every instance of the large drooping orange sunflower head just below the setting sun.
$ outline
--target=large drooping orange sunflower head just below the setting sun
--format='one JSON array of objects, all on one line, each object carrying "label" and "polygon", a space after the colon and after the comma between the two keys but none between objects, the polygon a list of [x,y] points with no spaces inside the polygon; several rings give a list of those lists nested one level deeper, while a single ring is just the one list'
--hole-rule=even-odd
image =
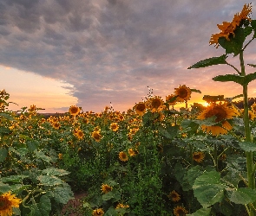
[{"label": "large drooping orange sunflower head just below the setting sun", "polygon": [[211,117],[216,117],[215,123],[219,125],[202,125],[202,130],[207,133],[212,133],[213,136],[220,134],[227,134],[228,130],[232,130],[232,125],[229,124],[226,119],[232,119],[238,115],[238,111],[232,106],[225,104],[212,104],[207,106],[204,111],[200,112],[200,115],[197,119],[204,120]]}]

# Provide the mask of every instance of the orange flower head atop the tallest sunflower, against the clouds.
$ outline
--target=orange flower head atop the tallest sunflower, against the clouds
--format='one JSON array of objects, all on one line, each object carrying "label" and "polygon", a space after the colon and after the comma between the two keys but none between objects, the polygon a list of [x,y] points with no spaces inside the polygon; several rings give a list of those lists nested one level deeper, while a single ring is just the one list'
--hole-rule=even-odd
[{"label": "orange flower head atop the tallest sunflower, against the clouds", "polygon": [[233,16],[232,22],[222,22],[222,24],[217,24],[218,28],[220,29],[220,33],[214,34],[211,36],[209,41],[210,45],[215,44],[214,46],[218,48],[220,46],[219,39],[220,37],[225,37],[227,41],[230,41],[229,36],[234,35],[235,29],[240,26],[240,22],[242,20],[251,21],[249,14],[252,12],[251,4],[245,4],[243,10]]}]

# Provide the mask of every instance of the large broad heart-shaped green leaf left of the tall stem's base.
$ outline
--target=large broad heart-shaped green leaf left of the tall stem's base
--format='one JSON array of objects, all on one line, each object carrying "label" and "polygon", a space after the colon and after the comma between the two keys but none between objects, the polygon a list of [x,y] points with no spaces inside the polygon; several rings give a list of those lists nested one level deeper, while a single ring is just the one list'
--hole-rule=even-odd
[{"label": "large broad heart-shaped green leaf left of the tall stem's base", "polygon": [[224,197],[225,185],[220,182],[220,173],[206,172],[194,181],[194,196],[201,206],[207,207],[220,202]]}]

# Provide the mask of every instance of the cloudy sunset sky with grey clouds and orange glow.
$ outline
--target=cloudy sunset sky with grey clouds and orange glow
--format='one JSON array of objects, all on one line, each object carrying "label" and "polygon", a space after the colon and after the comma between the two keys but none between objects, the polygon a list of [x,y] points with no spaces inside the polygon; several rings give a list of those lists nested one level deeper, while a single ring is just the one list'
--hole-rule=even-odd
[{"label": "cloudy sunset sky with grey clouds and orange glow", "polygon": [[[42,112],[128,111],[148,95],[163,100],[180,85],[204,95],[233,97],[238,84],[214,82],[232,67],[190,69],[224,54],[209,46],[217,24],[231,22],[244,0],[0,0],[0,90],[11,110],[36,105]],[[256,19],[256,4],[252,18]],[[245,63],[256,64],[256,41]],[[238,58],[227,61],[239,67]],[[253,73],[246,67],[246,73]],[[256,97],[256,85],[249,85]]]}]

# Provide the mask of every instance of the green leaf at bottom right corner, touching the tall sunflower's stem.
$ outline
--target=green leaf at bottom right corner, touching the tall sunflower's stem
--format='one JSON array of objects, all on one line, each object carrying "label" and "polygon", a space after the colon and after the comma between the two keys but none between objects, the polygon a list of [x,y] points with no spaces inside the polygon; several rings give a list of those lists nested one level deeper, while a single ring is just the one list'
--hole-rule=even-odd
[{"label": "green leaf at bottom right corner, touching the tall sunflower's stem", "polygon": [[230,200],[242,205],[252,203],[256,200],[256,189],[240,187],[231,194]]}]

